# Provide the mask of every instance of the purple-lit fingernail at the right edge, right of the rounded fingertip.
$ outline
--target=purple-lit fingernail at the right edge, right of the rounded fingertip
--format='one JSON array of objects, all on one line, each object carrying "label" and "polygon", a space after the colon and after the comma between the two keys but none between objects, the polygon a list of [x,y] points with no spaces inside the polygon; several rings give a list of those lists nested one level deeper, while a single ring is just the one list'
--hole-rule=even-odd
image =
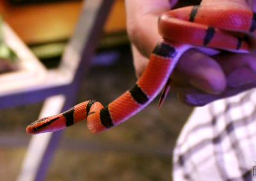
[{"label": "purple-lit fingernail at the right edge, right of the rounded fingertip", "polygon": [[227,83],[231,87],[237,87],[256,81],[256,73],[248,67],[234,69],[227,77]]}]

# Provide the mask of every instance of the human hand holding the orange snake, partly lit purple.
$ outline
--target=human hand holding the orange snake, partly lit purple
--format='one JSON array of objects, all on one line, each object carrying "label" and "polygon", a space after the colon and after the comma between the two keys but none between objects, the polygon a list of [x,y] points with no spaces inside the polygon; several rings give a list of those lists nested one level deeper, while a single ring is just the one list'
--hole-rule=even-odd
[{"label": "human hand holding the orange snake, partly lit purple", "polygon": [[[179,1],[181,6],[195,5],[198,1]],[[126,1],[127,31],[132,42],[134,67],[139,77],[147,66],[148,57],[161,40],[157,30],[158,17],[173,7],[175,1],[140,0]],[[178,3],[178,4],[179,4]],[[239,8],[253,7],[237,1],[230,5],[229,0],[221,3],[205,0],[204,5],[227,4]],[[216,4],[213,4],[216,3]],[[179,6],[179,5],[178,5]],[[256,86],[256,55],[221,52],[212,57],[199,50],[190,49],[180,57],[172,78],[172,91],[183,103],[202,106],[220,98],[227,98]]]}]

